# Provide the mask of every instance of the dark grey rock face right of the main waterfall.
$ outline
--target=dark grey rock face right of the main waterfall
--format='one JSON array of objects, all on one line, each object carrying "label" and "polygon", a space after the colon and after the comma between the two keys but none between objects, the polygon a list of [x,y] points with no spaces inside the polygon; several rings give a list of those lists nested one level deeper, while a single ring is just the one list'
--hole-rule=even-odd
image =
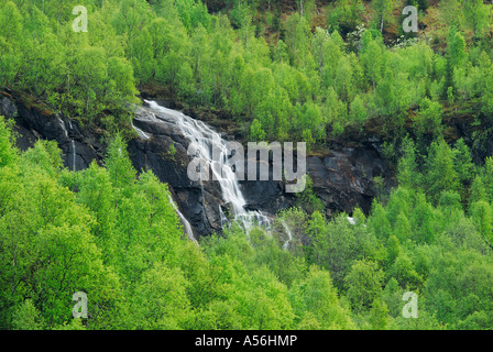
[{"label": "dark grey rock face right of the main waterfall", "polygon": [[[391,176],[385,161],[371,145],[340,147],[325,156],[308,156],[306,167],[327,217],[340,211],[352,215],[357,206],[368,213],[375,196],[373,177],[390,180]],[[266,182],[244,180],[241,186],[251,209],[275,213],[295,204],[295,195],[285,193],[285,184],[272,177]]]}]

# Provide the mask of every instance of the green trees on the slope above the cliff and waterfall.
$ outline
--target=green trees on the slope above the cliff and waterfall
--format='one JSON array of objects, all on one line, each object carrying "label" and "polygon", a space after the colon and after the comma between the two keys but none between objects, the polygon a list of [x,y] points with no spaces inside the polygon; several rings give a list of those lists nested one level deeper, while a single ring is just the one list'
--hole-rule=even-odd
[{"label": "green trees on the slope above the cliff and waterfall", "polygon": [[[416,133],[439,136],[443,107],[464,101],[492,124],[493,22],[480,0],[429,11],[426,1],[338,0],[325,16],[299,1],[282,19],[285,1],[213,1],[210,14],[199,0],[87,0],[89,30],[76,33],[79,2],[2,1],[0,86],[110,132],[128,128],[127,103],[153,87],[230,113],[245,138],[310,147],[369,120],[399,142],[412,110]],[[395,10],[413,3],[420,23],[432,21],[419,37],[396,30]]]}]

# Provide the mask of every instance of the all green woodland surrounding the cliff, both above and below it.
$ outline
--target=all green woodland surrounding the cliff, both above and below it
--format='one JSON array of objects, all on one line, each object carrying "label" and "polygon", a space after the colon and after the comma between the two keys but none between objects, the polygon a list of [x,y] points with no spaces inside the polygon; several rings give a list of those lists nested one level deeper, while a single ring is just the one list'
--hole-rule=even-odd
[{"label": "all green woodland surrounding the cliff, both above and below it", "polygon": [[[429,0],[430,1],[430,0]],[[72,29],[84,4],[89,30]],[[419,9],[419,33],[401,29]],[[493,157],[447,134],[493,127],[493,6],[480,0],[0,0],[0,87],[107,131],[103,166],[20,152],[0,120],[1,329],[490,329]],[[184,235],[165,184],[125,152],[130,103],[161,89],[250,140],[311,151],[377,127],[397,185],[324,217],[310,187],[246,234]],[[377,188],[377,183],[375,187]],[[282,222],[293,233],[286,235]],[[72,318],[86,292],[89,318]],[[418,295],[406,319],[403,294]]]}]

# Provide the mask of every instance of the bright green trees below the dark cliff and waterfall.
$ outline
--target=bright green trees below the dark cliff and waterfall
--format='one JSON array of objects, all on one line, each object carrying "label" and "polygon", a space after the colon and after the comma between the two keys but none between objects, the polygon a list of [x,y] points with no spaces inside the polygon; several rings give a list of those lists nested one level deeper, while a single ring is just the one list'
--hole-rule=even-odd
[{"label": "bright green trees below the dark cliff and waterfall", "polygon": [[[121,138],[105,167],[62,167],[54,142],[20,153],[0,120],[2,329],[489,329],[493,321],[493,158],[464,163],[445,142],[418,165],[406,142],[401,186],[354,224],[327,221],[313,190],[272,235],[184,235],[166,185],[136,179]],[[461,198],[460,175],[471,196]],[[443,183],[439,183],[437,174]],[[420,185],[414,184],[420,180]],[[467,206],[464,206],[467,204]],[[318,209],[318,210],[317,210]],[[465,210],[464,210],[465,209]],[[322,209],[321,209],[322,210]],[[292,232],[285,246],[284,223]],[[72,318],[85,292],[88,319]],[[405,292],[418,319],[402,316]]]}]

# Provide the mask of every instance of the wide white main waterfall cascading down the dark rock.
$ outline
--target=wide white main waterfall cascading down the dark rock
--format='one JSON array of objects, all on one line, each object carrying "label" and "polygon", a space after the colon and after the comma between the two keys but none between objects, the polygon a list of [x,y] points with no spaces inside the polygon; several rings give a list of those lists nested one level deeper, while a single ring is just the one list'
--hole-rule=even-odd
[{"label": "wide white main waterfall cascading down the dark rock", "polygon": [[[211,166],[212,179],[219,183],[224,202],[231,205],[234,221],[238,221],[243,227],[246,234],[255,224],[269,229],[271,223],[269,217],[261,211],[248,211],[245,209],[246,201],[240,189],[237,175],[227,165],[229,157],[227,141],[202,121],[194,120],[179,111],[161,107],[155,101],[145,100],[145,102],[149,103],[149,110],[153,113],[152,120],[164,120],[174,123],[183,135],[197,146],[199,152],[197,156],[201,158],[207,167]],[[212,157],[213,150],[221,151],[218,160]],[[221,209],[220,217],[222,222],[226,217]]]}]

